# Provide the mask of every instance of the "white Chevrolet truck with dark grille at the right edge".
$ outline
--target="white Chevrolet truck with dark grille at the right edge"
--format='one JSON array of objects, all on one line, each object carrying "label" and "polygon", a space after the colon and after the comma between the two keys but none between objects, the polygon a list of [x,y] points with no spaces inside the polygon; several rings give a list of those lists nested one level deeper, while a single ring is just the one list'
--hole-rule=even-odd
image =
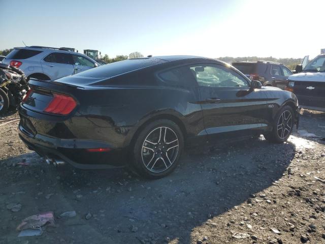
[{"label": "white Chevrolet truck with dark grille at the right edge", "polygon": [[287,90],[293,92],[303,108],[325,111],[325,54],[316,56],[309,64],[308,56],[296,72],[288,77]]}]

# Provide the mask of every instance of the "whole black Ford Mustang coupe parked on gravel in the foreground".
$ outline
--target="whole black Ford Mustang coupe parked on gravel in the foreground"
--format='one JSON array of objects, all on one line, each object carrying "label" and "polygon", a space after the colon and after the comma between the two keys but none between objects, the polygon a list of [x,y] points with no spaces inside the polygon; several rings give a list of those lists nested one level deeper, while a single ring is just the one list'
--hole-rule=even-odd
[{"label": "whole black Ford Mustang coupe parked on gravel in the foreground", "polygon": [[29,85],[20,138],[48,161],[84,169],[126,162],[158,178],[185,145],[261,134],[279,143],[298,126],[293,93],[204,57],[128,59]]}]

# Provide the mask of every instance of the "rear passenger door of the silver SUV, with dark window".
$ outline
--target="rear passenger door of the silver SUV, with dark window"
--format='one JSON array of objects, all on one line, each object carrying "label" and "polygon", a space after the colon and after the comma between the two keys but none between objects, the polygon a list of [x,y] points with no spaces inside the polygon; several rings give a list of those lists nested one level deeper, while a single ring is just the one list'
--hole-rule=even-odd
[{"label": "rear passenger door of the silver SUV, with dark window", "polygon": [[44,74],[55,80],[74,73],[73,59],[70,53],[52,52],[41,60]]}]

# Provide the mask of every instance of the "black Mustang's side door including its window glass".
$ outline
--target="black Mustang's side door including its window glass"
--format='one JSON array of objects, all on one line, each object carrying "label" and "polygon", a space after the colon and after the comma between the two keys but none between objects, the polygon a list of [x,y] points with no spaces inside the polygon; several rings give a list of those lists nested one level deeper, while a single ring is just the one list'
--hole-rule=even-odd
[{"label": "black Mustang's side door including its window glass", "polygon": [[197,78],[206,133],[211,139],[247,136],[266,129],[267,97],[248,78],[217,64],[190,66]]}]

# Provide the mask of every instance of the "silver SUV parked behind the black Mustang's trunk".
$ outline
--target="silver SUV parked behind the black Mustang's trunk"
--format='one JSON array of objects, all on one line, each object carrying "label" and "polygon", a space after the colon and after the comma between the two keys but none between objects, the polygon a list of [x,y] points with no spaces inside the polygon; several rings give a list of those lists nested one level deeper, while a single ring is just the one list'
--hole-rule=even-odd
[{"label": "silver SUV parked behind the black Mustang's trunk", "polygon": [[41,80],[55,80],[100,66],[84,54],[41,46],[16,47],[2,63],[21,69],[27,79]]}]

